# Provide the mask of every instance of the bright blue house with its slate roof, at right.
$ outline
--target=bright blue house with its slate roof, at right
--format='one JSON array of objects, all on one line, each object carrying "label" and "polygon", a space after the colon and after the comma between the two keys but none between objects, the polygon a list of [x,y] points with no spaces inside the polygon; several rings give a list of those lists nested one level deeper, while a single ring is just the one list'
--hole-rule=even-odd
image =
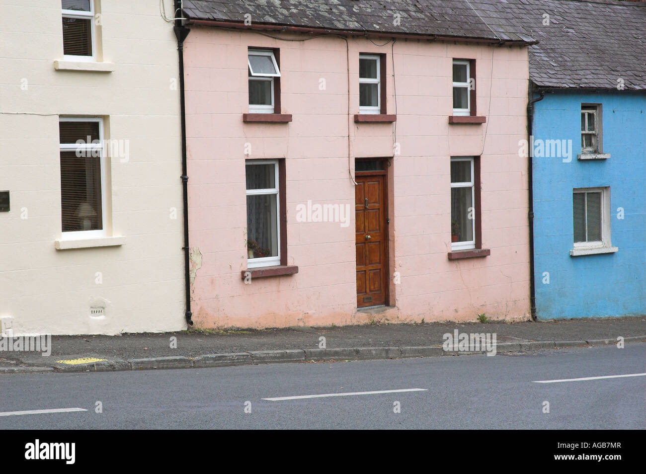
[{"label": "bright blue house with its slate roof, at right", "polygon": [[536,318],[646,314],[646,3],[525,8]]}]

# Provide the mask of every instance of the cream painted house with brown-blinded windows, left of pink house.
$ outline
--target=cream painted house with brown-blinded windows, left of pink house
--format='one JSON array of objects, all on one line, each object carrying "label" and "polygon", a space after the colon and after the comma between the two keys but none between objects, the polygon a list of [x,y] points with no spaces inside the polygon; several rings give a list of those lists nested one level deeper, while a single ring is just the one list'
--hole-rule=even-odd
[{"label": "cream painted house with brown-blinded windows, left of pink house", "polygon": [[5,334],[185,328],[172,23],[156,1],[7,0],[0,43]]}]

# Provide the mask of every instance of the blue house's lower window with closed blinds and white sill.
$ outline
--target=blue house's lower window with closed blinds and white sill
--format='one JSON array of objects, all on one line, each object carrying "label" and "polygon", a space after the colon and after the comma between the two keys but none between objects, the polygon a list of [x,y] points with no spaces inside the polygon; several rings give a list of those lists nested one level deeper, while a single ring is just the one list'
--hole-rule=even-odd
[{"label": "blue house's lower window with closed blinds and white sill", "polygon": [[572,191],[574,249],[570,255],[616,252],[610,241],[610,188]]}]

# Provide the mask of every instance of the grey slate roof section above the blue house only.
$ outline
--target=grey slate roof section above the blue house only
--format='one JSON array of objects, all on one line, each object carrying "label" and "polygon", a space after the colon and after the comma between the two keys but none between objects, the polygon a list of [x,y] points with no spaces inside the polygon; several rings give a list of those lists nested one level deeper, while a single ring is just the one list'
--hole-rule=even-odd
[{"label": "grey slate roof section above the blue house only", "polygon": [[[501,0],[524,18],[530,78],[541,87],[646,90],[646,3],[607,0]],[[550,25],[543,25],[548,14]]]}]

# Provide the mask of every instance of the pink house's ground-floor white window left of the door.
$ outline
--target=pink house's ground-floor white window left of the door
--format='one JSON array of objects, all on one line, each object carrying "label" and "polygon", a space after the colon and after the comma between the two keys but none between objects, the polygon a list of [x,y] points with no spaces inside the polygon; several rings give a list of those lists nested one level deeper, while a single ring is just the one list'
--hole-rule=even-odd
[{"label": "pink house's ground-floor white window left of the door", "polygon": [[277,160],[247,160],[247,268],[280,265]]}]

